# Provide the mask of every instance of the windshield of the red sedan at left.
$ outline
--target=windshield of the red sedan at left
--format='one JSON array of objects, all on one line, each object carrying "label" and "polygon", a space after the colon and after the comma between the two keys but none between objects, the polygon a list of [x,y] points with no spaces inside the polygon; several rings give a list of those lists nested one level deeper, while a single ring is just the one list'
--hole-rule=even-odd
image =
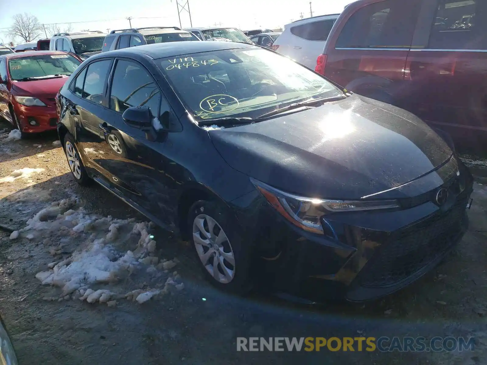
[{"label": "windshield of the red sedan at left", "polygon": [[55,75],[70,75],[81,64],[71,55],[32,55],[8,61],[12,80],[42,79]]}]

